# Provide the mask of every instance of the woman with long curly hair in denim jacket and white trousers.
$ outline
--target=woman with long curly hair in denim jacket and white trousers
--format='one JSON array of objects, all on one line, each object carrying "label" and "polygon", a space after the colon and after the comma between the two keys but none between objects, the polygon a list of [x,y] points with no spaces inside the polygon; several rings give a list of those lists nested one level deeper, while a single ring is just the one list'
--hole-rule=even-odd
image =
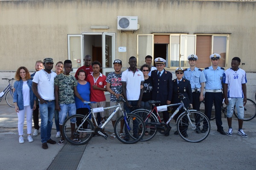
[{"label": "woman with long curly hair in denim jacket and white trousers", "polygon": [[21,66],[17,69],[15,74],[15,81],[14,83],[14,96],[13,102],[15,105],[15,111],[18,115],[18,132],[20,135],[19,143],[23,144],[23,126],[24,126],[24,119],[25,119],[25,112],[26,112],[26,121],[27,121],[27,134],[28,134],[28,141],[34,141],[31,137],[32,131],[32,113],[33,109],[36,108],[36,97],[32,91],[32,80],[30,80],[29,70]]}]

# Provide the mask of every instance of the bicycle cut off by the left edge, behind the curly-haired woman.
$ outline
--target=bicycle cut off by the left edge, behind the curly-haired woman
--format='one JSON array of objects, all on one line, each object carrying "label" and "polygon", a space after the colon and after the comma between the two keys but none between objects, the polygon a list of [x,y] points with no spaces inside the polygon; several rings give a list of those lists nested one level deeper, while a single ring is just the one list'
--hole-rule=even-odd
[{"label": "bicycle cut off by the left edge, behind the curly-haired woman", "polygon": [[10,106],[10,107],[14,107],[14,103],[13,103],[13,86],[12,86],[12,81],[14,80],[14,78],[9,79],[9,78],[2,78],[2,80],[8,80],[9,84],[8,86],[3,90],[3,92],[0,93],[0,102],[2,101],[3,96],[5,95],[5,100],[6,103]]}]

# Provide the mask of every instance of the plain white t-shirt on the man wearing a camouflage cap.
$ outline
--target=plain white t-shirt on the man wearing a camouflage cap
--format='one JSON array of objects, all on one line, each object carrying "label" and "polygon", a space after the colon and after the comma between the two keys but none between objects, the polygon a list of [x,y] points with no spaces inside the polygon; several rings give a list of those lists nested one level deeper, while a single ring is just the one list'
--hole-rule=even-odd
[{"label": "plain white t-shirt on the man wearing a camouflage cap", "polygon": [[44,100],[55,100],[54,96],[54,78],[57,75],[55,72],[50,73],[51,77],[47,76],[44,69],[35,73],[33,82],[38,84],[38,93]]}]

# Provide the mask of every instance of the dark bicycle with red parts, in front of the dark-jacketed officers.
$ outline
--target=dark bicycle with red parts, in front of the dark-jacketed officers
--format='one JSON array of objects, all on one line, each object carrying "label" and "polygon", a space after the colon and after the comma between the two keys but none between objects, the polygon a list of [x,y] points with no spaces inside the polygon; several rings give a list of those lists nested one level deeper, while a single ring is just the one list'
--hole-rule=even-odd
[{"label": "dark bicycle with red parts, in front of the dark-jacketed officers", "polygon": [[[145,122],[145,127],[150,129],[148,135],[144,135],[141,141],[150,140],[154,137],[154,135],[156,135],[157,131],[161,134],[165,134],[167,130],[169,130],[169,126],[167,124],[169,124],[169,122],[174,118],[181,108],[183,108],[185,111],[180,114],[176,121],[177,132],[179,133],[180,137],[185,141],[194,143],[203,141],[205,138],[207,138],[210,133],[210,121],[207,116],[202,112],[189,110],[189,102],[185,101],[188,98],[185,98],[183,95],[180,95],[180,98],[180,103],[168,104],[160,107],[155,106],[155,104],[160,103],[160,101],[149,101],[149,104],[154,106],[153,109],[137,109],[131,112],[135,115],[142,115]],[[166,124],[162,123],[158,111],[165,111],[168,107],[173,106],[178,106],[178,108],[175,110]],[[154,115],[153,111],[156,112],[156,115]],[[195,120],[197,120],[197,123]],[[201,133],[200,129],[202,128],[207,130],[206,133]]]}]

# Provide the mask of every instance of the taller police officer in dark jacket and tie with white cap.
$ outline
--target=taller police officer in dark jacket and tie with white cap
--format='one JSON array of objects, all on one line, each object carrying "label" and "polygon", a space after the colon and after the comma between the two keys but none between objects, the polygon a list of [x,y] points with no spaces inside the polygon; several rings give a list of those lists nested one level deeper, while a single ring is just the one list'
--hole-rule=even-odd
[{"label": "taller police officer in dark jacket and tie with white cap", "polygon": [[[156,58],[157,70],[151,72],[153,82],[152,100],[161,101],[160,105],[171,104],[172,101],[172,73],[164,69],[166,60]],[[166,123],[169,119],[169,112],[163,112],[163,121]],[[169,135],[169,132],[165,134]]]}]

